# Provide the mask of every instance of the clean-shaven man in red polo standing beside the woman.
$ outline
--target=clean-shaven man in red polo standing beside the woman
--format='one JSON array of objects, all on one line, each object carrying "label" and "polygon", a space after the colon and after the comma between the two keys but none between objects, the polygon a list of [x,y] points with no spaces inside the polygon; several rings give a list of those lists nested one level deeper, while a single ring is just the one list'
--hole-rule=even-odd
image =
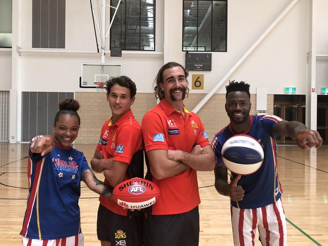
[{"label": "clean-shaven man in red polo standing beside the woman", "polygon": [[[106,90],[112,118],[101,128],[91,167],[103,172],[104,183],[114,188],[128,178],[143,177],[142,135],[130,109],[137,90],[133,81],[126,76],[111,78]],[[100,196],[99,201],[97,236],[101,245],[142,245],[142,217],[131,216],[131,211],[114,200]]]}]

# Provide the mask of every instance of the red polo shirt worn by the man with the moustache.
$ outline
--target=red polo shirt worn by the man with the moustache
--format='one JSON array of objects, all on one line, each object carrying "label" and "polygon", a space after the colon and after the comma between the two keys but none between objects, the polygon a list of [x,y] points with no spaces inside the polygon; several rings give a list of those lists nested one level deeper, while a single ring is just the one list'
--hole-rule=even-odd
[{"label": "red polo shirt worn by the man with the moustache", "polygon": [[[165,99],[143,117],[141,131],[146,152],[155,149],[182,150],[190,153],[199,144],[209,145],[199,117],[184,106],[185,117]],[[196,170],[189,168],[172,177],[157,180],[160,197],[152,214],[179,214],[192,210],[200,203]]]}]

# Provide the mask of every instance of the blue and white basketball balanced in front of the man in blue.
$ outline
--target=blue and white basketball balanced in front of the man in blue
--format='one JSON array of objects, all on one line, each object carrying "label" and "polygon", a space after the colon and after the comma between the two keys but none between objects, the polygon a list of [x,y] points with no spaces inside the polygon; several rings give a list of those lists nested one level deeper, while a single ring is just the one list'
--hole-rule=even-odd
[{"label": "blue and white basketball balanced in front of the man in blue", "polygon": [[222,147],[222,161],[236,174],[247,175],[256,172],[263,162],[263,149],[256,139],[248,135],[235,135]]}]

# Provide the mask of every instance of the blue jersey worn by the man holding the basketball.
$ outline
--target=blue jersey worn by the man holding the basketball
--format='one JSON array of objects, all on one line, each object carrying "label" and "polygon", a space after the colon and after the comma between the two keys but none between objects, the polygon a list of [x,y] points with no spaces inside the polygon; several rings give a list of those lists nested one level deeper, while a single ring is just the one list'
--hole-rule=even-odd
[{"label": "blue jersey worn by the man holding the basketball", "polygon": [[[242,134],[256,139],[264,151],[264,159],[261,167],[249,175],[242,175],[238,181],[244,191],[244,198],[240,202],[231,201],[231,205],[241,209],[260,208],[280,199],[282,188],[277,172],[277,144],[276,136],[272,134],[272,128],[282,119],[275,115],[250,115],[251,127]],[[217,165],[223,165],[221,150],[224,143],[235,134],[231,124],[218,132],[212,141]],[[231,180],[237,174],[232,173]]]}]

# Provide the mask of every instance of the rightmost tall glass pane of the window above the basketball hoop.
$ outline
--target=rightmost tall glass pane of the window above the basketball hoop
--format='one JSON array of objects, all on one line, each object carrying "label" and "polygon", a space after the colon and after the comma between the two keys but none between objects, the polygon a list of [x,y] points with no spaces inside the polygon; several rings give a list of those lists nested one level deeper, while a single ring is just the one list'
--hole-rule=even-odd
[{"label": "rightmost tall glass pane of the window above the basketball hoop", "polygon": [[154,50],[154,5],[152,0],[141,1],[140,49]]}]

